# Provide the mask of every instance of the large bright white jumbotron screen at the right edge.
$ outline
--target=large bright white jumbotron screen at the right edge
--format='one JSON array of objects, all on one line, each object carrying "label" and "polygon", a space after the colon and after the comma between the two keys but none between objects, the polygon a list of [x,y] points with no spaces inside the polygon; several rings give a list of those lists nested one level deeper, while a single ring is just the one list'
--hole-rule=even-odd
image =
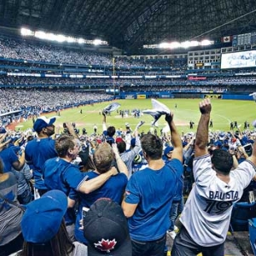
[{"label": "large bright white jumbotron screen at the right edge", "polygon": [[256,67],[256,50],[224,53],[221,55],[221,69]]}]

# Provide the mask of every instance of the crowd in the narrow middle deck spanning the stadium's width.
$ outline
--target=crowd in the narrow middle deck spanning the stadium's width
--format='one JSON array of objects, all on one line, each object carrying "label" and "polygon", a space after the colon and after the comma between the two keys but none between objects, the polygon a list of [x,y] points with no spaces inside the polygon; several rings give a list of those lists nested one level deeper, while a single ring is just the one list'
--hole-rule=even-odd
[{"label": "crowd in the narrow middle deck spanning the stadium's width", "polygon": [[[132,90],[134,86],[154,86],[155,90],[159,90],[160,86],[197,86],[200,87],[207,87],[211,88],[211,86],[218,86],[219,88],[222,87],[220,90],[225,91],[228,90],[229,86],[240,87],[241,90],[247,88],[250,85],[255,84],[255,78],[248,78],[248,79],[207,79],[204,81],[192,81],[188,79],[74,79],[74,78],[37,78],[37,77],[27,77],[27,76],[7,76],[7,75],[0,75],[0,85],[14,85],[14,86],[79,86],[84,85],[87,87],[93,88],[106,88],[109,86],[116,86],[125,87],[125,90]],[[131,89],[129,89],[131,87]],[[189,87],[188,87],[189,88]],[[238,88],[239,89],[239,88]],[[210,89],[209,89],[210,90]],[[200,90],[199,90],[200,92]]]}]

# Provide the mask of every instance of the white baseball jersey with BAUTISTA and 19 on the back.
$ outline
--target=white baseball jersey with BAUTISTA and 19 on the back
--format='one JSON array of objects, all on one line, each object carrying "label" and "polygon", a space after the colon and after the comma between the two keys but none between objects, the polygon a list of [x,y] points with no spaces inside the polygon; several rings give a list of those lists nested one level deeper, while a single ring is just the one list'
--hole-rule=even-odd
[{"label": "white baseball jersey with BAUTISTA and 19 on the back", "polygon": [[193,166],[195,186],[180,220],[196,243],[212,247],[225,241],[233,203],[240,200],[256,169],[252,162],[244,161],[230,172],[230,183],[225,183],[212,169],[209,154],[195,158]]}]

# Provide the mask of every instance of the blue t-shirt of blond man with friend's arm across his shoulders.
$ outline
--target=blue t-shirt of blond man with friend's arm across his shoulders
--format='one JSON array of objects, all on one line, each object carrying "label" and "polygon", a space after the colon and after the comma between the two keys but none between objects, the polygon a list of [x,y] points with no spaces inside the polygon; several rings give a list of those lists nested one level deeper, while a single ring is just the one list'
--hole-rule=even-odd
[{"label": "blue t-shirt of blond man with friend's arm across his shoulders", "polygon": [[[87,172],[86,175],[91,179],[98,177],[99,174],[96,172]],[[78,193],[79,195],[79,212],[76,218],[75,224],[75,237],[78,241],[87,243],[86,239],[84,238],[83,230],[79,230],[80,224],[79,221],[82,218],[82,208],[90,206],[99,198],[107,197],[112,199],[113,201],[117,202],[118,204],[121,203],[122,197],[125,192],[125,186],[127,184],[128,178],[124,173],[119,173],[118,175],[112,176],[108,179],[106,183],[102,185],[99,189],[96,189],[89,194]],[[73,200],[77,198],[75,191],[71,191],[69,197]]]}]

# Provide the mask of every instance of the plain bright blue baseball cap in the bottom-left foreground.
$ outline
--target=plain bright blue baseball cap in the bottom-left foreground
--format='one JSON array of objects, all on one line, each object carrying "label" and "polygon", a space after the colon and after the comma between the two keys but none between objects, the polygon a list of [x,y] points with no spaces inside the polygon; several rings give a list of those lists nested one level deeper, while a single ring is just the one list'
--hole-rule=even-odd
[{"label": "plain bright blue baseball cap in the bottom-left foreground", "polygon": [[50,190],[27,204],[21,220],[24,240],[33,243],[49,241],[60,230],[66,211],[67,195],[61,190]]}]

